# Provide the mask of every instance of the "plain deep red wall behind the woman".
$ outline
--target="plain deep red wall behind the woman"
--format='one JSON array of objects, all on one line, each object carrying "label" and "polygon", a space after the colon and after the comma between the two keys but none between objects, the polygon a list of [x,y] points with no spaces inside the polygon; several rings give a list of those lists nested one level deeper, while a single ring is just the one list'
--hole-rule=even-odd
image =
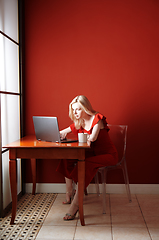
[{"label": "plain deep red wall behind the woman", "polygon": [[[33,115],[67,127],[69,102],[84,94],[109,123],[128,125],[130,183],[159,183],[158,12],[150,0],[25,0],[25,134]],[[57,163],[40,160],[37,181],[63,182]]]}]

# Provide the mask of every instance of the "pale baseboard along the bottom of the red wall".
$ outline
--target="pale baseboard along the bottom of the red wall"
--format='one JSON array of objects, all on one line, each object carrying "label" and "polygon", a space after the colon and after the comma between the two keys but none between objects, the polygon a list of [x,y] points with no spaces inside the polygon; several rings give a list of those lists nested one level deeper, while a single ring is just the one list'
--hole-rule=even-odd
[{"label": "pale baseboard along the bottom of the red wall", "polygon": [[[99,184],[101,192],[102,184]],[[87,188],[88,193],[96,193],[95,184],[90,184]],[[159,184],[130,184],[131,194],[159,194]],[[26,192],[32,192],[32,183],[26,183]],[[37,183],[36,193],[65,193],[66,186],[63,183]],[[107,184],[107,193],[125,194],[124,184]]]}]

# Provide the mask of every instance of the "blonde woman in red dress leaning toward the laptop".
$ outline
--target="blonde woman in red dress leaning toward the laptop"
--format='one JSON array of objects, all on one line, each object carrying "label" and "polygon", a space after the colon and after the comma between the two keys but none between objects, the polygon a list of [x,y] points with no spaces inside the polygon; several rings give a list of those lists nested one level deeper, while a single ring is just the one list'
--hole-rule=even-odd
[{"label": "blonde woman in red dress leaning toward the laptop", "polygon": [[[69,105],[69,117],[73,124],[60,131],[61,138],[73,132],[76,136],[84,132],[88,134],[90,150],[86,151],[85,159],[85,189],[95,176],[98,168],[115,165],[118,155],[115,146],[109,138],[106,118],[93,110],[89,100],[79,95],[75,97]],[[63,204],[71,204],[64,220],[73,220],[78,211],[78,185],[74,199],[71,203],[72,181],[78,182],[76,160],[61,160],[57,171],[65,176],[66,181],[66,201]]]}]

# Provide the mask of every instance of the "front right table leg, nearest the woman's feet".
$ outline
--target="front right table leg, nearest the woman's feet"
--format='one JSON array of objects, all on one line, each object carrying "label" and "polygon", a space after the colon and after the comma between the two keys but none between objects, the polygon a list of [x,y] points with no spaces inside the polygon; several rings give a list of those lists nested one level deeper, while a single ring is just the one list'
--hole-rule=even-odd
[{"label": "front right table leg, nearest the woman's feet", "polygon": [[78,161],[78,202],[81,225],[85,226],[83,215],[83,195],[85,184],[85,161]]}]

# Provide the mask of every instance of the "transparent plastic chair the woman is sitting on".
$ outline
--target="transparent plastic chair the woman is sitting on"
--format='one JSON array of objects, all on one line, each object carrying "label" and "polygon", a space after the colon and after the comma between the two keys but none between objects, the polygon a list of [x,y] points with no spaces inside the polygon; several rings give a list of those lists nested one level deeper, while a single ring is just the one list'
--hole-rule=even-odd
[{"label": "transparent plastic chair the woman is sitting on", "polygon": [[122,169],[128,199],[129,199],[129,202],[131,202],[131,193],[130,193],[129,178],[128,178],[128,172],[127,172],[127,166],[126,166],[126,157],[125,157],[128,126],[127,125],[108,124],[108,127],[110,128],[109,136],[118,151],[119,161],[114,166],[107,166],[107,167],[99,168],[97,174],[95,175],[97,194],[99,195],[98,173],[101,174],[102,193],[103,193],[103,214],[106,213],[106,177],[107,177],[108,170]]}]

